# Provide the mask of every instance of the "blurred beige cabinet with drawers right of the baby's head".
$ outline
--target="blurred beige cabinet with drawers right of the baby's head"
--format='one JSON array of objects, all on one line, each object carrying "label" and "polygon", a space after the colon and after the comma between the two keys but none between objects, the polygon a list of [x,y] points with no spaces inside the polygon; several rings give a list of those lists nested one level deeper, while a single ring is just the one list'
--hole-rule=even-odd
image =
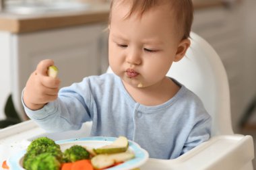
[{"label": "blurred beige cabinet with drawers right of the baby's head", "polygon": [[243,56],[241,46],[244,40],[242,18],[241,5],[238,4],[199,9],[195,11],[192,28],[193,32],[205,38],[214,47],[224,64],[230,85],[232,124],[235,132],[245,109],[243,69],[247,59]]}]

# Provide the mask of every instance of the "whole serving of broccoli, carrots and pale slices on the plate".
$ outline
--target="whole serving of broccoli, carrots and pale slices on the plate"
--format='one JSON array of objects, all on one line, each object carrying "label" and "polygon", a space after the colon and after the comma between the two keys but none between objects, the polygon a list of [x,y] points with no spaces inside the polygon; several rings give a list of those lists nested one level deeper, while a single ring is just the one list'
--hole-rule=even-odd
[{"label": "whole serving of broccoli, carrots and pale slices on the plate", "polygon": [[73,145],[64,152],[59,144],[47,137],[33,140],[24,155],[23,167],[27,170],[78,170],[106,169],[133,159],[127,151],[129,142],[124,136],[100,148]]}]

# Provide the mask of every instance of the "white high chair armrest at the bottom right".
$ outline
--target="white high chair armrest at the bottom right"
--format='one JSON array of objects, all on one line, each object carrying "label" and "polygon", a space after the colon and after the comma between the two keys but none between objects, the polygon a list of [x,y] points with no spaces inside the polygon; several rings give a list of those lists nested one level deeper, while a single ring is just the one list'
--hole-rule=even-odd
[{"label": "white high chair armrest at the bottom right", "polygon": [[[177,159],[149,159],[142,169],[253,169],[253,138],[243,135],[214,136]],[[249,168],[248,168],[249,167]]]}]

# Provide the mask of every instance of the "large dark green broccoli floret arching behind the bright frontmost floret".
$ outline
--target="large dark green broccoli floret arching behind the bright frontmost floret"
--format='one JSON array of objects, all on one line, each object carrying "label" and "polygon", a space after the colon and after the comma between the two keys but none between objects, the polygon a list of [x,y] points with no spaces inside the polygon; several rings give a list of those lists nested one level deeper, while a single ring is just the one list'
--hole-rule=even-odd
[{"label": "large dark green broccoli floret arching behind the bright frontmost floret", "polygon": [[33,140],[28,146],[27,153],[24,155],[23,167],[32,170],[32,162],[42,153],[48,153],[55,157],[59,163],[62,162],[63,153],[61,152],[59,144],[55,144],[50,138],[42,137]]}]

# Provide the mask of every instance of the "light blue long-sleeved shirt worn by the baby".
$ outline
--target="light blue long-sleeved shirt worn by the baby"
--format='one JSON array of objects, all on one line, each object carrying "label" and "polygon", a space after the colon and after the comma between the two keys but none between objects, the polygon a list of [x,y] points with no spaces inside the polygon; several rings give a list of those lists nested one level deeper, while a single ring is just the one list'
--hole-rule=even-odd
[{"label": "light blue long-sleeved shirt worn by the baby", "polygon": [[92,121],[91,136],[127,136],[158,159],[177,158],[211,133],[210,115],[184,85],[165,103],[146,106],[134,101],[114,74],[86,77],[64,87],[57,100],[40,110],[24,108],[49,132],[78,130]]}]

